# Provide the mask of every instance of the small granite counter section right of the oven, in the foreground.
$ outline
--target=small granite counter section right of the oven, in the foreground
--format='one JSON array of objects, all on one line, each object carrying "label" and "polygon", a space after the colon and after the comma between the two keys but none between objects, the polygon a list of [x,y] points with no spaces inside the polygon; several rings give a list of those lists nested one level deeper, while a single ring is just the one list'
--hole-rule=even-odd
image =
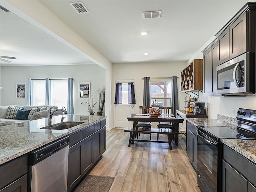
[{"label": "small granite counter section right of the oven, in the foreground", "polygon": [[256,163],[256,140],[221,139],[221,142]]}]

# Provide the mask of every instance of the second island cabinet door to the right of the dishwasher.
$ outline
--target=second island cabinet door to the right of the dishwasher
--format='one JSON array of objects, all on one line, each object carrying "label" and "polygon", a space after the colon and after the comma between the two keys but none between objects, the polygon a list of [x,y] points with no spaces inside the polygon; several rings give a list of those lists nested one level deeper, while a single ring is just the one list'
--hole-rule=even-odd
[{"label": "second island cabinet door to the right of the dishwasher", "polygon": [[83,174],[86,174],[94,163],[94,135],[83,140]]}]

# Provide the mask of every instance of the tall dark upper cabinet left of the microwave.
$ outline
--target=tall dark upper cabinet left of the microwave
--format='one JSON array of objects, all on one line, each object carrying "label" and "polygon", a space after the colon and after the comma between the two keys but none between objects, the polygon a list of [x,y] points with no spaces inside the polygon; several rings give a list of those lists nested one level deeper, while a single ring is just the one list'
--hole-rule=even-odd
[{"label": "tall dark upper cabinet left of the microwave", "polygon": [[203,96],[221,96],[217,94],[218,42],[215,39],[203,51],[204,78]]}]

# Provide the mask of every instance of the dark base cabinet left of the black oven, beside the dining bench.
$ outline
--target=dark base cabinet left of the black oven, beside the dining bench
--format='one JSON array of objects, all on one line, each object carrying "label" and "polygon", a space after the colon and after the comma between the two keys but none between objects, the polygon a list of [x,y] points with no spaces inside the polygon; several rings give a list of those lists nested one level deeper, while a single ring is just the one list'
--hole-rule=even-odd
[{"label": "dark base cabinet left of the black oven, beside the dining bench", "polygon": [[197,127],[194,126],[192,123],[188,122],[186,120],[186,138],[187,138],[187,155],[190,160],[190,163],[192,164],[194,170],[196,170],[196,144],[197,144],[197,134],[196,129]]}]

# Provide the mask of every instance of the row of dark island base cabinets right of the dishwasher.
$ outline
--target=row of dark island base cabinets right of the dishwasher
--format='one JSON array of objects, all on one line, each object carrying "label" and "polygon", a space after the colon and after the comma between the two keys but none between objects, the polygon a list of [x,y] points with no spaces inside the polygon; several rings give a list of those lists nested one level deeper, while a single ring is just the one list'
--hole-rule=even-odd
[{"label": "row of dark island base cabinets right of the dishwasher", "polygon": [[105,150],[106,120],[96,123],[96,129],[94,124],[70,135],[67,192],[76,187]]}]

